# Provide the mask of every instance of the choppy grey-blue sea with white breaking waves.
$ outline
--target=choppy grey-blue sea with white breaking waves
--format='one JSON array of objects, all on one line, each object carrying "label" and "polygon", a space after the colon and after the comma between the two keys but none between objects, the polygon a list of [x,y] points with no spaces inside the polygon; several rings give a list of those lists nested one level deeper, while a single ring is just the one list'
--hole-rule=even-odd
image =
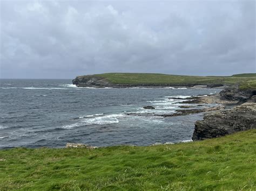
[{"label": "choppy grey-blue sea with white breaking waves", "polygon": [[[220,89],[78,88],[71,80],[0,80],[0,148],[152,145],[191,140],[203,114],[177,117],[172,96],[217,94]],[[143,109],[146,105],[155,110]]]}]

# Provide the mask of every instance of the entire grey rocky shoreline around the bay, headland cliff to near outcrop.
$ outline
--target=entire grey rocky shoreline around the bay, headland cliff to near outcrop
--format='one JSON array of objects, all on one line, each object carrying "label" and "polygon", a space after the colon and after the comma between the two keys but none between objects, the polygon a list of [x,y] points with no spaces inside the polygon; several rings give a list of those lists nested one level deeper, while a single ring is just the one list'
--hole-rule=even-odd
[{"label": "entire grey rocky shoreline around the bay, headland cliff to near outcrop", "polygon": [[[159,117],[176,117],[190,114],[205,112],[201,121],[195,122],[192,140],[203,140],[225,136],[238,131],[256,129],[256,90],[241,90],[238,85],[226,86],[226,84],[112,84],[104,77],[99,76],[77,76],[73,84],[78,87],[112,87],[112,88],[223,88],[218,95],[198,95],[188,98],[175,98],[180,100],[178,103],[188,104],[181,105],[172,114],[154,114],[146,112],[143,114],[126,113],[126,115],[136,116],[159,116]],[[170,97],[172,99],[174,97]],[[197,105],[196,105],[197,104]],[[218,104],[210,107],[206,104]],[[208,107],[208,108],[206,108]],[[150,105],[145,109],[153,110]]]}]

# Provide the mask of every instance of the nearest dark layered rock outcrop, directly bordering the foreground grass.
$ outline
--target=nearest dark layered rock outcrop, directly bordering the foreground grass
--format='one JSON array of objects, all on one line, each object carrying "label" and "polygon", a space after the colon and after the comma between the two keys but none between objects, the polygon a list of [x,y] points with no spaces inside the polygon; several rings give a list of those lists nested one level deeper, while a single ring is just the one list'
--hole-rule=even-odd
[{"label": "nearest dark layered rock outcrop, directly bordering the foreground grass", "polygon": [[229,110],[217,111],[195,123],[192,140],[220,137],[256,128],[256,103],[247,102]]}]

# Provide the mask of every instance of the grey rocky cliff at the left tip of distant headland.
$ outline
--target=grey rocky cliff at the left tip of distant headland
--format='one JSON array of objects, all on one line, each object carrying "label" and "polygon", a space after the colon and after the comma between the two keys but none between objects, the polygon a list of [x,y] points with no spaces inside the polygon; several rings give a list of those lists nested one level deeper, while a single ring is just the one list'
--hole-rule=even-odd
[{"label": "grey rocky cliff at the left tip of distant headland", "polygon": [[106,87],[110,85],[110,82],[100,76],[77,76],[72,80],[72,83],[78,87]]}]

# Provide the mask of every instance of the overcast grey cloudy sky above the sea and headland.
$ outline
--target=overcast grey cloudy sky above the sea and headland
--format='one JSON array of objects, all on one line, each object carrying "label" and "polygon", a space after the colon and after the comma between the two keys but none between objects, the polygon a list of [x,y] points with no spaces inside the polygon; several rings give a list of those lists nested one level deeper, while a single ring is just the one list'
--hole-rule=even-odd
[{"label": "overcast grey cloudy sky above the sea and headland", "polygon": [[0,2],[0,78],[256,73],[254,0]]}]

